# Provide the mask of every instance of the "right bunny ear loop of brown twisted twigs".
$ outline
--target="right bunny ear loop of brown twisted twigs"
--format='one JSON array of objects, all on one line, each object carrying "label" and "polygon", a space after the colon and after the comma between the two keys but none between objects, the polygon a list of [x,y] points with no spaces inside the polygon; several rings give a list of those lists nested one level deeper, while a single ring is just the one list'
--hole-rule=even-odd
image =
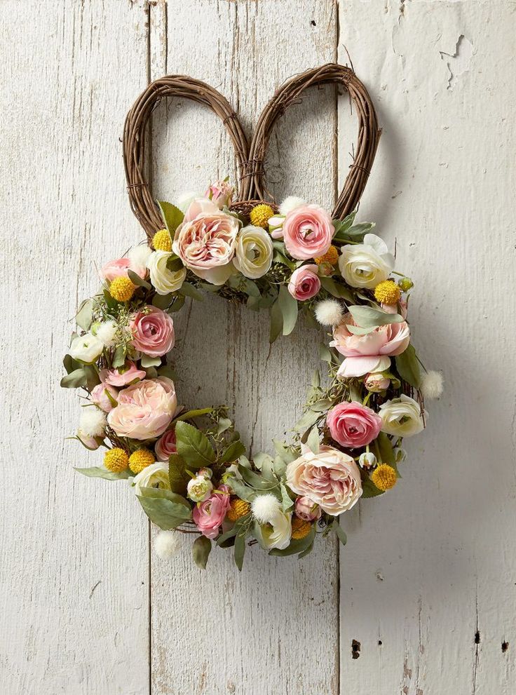
[{"label": "right bunny ear loop of brown twisted twigs", "polygon": [[314,85],[337,83],[348,91],[358,115],[358,143],[356,156],[344,182],[344,188],[333,210],[333,216],[344,219],[355,210],[365,189],[365,184],[378,147],[381,130],[376,112],[367,93],[353,70],[337,63],[327,63],[307,70],[285,82],[264,108],[252,138],[249,161],[243,171],[242,198],[264,198],[264,159],[274,124],[299,98],[305,89]]}]

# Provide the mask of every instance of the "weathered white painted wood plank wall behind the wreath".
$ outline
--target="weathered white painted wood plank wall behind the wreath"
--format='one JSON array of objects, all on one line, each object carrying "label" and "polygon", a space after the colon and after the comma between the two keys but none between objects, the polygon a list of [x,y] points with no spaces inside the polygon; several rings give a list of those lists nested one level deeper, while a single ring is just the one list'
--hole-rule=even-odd
[{"label": "weathered white painted wood plank wall behind the wreath", "polygon": [[[2,0],[0,29],[1,693],[513,694],[515,3]],[[281,81],[345,47],[383,126],[360,217],[416,281],[414,338],[444,396],[400,485],[347,515],[340,555],[253,549],[240,575],[186,548],[165,565],[124,485],[74,475],[95,454],[64,441],[79,403],[59,387],[95,264],[142,236],[125,112],[186,73],[250,133]],[[345,97],[307,94],[272,140],[276,196],[331,205],[354,137]],[[220,123],[190,103],[162,107],[152,147],[163,198],[234,175]],[[255,451],[297,419],[314,332],[269,356],[265,316],[209,298],[177,336],[184,402],[228,403]]]}]

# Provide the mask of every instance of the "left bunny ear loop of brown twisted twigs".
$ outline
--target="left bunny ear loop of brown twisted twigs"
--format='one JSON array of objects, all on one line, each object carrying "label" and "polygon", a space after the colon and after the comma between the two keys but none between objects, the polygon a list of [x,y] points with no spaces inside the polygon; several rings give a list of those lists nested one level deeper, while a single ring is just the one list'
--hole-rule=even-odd
[{"label": "left bunny ear loop of brown twisted twigs", "polygon": [[249,151],[249,143],[238,116],[216,89],[184,75],[168,75],[149,84],[127,114],[123,128],[123,163],[130,205],[149,239],[163,228],[163,220],[145,174],[145,144],[149,118],[164,97],[179,97],[205,104],[219,116],[231,137],[239,170],[243,170]]}]

